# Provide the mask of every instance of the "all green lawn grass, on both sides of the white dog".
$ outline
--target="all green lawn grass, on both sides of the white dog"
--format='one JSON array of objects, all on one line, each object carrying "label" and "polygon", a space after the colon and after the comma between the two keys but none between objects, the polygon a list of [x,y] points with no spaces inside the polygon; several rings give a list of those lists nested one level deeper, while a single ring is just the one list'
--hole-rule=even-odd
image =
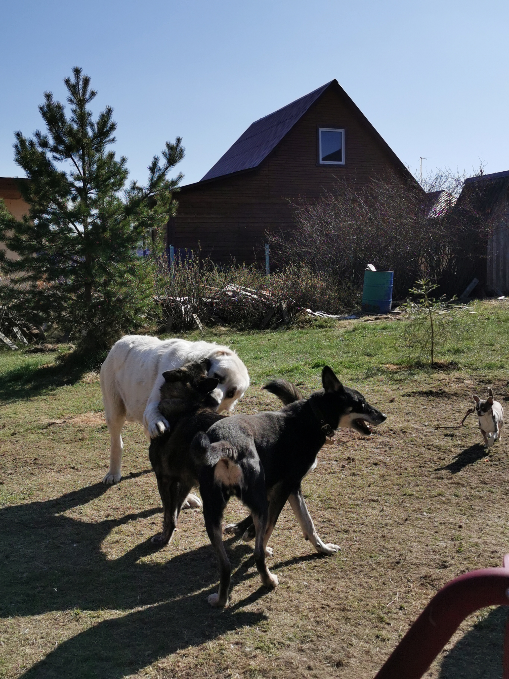
[{"label": "all green lawn grass, on both sides of the white dog", "polygon": [[[470,313],[474,312],[474,313]],[[509,304],[476,302],[459,316],[460,339],[438,347],[438,362],[457,364],[457,369],[490,371],[495,376],[505,370],[509,359]],[[304,327],[238,332],[227,328],[206,329],[181,335],[206,339],[234,348],[249,366],[252,384],[269,378],[285,377],[294,382],[318,386],[324,365],[330,365],[345,382],[383,375],[388,380],[431,370],[429,359],[416,360],[404,344],[404,320],[377,322],[368,317],[358,321],[318,320]],[[482,328],[482,330],[481,330]],[[64,352],[65,348],[62,348]],[[0,398],[12,401],[27,394],[48,394],[78,382],[93,361],[71,365],[56,363],[58,354],[25,354],[0,350]]]}]

